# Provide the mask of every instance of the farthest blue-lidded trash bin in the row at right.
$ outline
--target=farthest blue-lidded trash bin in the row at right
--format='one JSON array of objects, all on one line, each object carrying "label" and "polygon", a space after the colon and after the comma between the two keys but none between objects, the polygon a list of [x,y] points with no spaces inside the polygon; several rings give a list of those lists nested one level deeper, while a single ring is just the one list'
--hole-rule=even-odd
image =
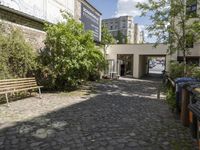
[{"label": "farthest blue-lidded trash bin in the row at right", "polygon": [[181,113],[181,99],[182,99],[182,88],[188,82],[198,82],[195,78],[183,77],[175,79],[176,84],[176,112],[178,115]]}]

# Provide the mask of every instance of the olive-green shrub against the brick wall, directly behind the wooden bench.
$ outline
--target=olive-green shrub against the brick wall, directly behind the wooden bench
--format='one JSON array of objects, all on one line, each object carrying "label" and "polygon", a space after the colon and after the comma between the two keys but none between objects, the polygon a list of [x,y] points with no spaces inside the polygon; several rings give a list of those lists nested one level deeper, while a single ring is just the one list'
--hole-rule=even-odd
[{"label": "olive-green shrub against the brick wall, directly behind the wooden bench", "polygon": [[20,30],[0,33],[0,79],[32,76],[36,68],[35,59],[33,48]]}]

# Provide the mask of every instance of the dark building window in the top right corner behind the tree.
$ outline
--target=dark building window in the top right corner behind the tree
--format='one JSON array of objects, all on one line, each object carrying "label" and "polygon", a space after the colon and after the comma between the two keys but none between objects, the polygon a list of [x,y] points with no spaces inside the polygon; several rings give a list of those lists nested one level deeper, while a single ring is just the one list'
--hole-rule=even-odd
[{"label": "dark building window in the top right corner behind the tree", "polygon": [[197,0],[187,0],[186,14],[192,18],[197,16]]}]

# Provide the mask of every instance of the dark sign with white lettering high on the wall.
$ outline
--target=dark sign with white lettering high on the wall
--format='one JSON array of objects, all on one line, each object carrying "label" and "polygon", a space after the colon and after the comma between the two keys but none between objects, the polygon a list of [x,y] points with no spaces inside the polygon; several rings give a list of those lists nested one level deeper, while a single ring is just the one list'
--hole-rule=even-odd
[{"label": "dark sign with white lettering high on the wall", "polygon": [[81,22],[84,24],[85,30],[91,30],[94,34],[94,40],[100,41],[101,36],[101,18],[93,12],[88,6],[81,4]]}]

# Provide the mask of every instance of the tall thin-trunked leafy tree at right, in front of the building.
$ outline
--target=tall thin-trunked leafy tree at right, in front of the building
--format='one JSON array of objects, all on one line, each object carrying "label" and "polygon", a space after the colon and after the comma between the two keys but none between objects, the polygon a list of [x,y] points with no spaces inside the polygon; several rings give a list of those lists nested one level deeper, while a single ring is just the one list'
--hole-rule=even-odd
[{"label": "tall thin-trunked leafy tree at right, in front of the building", "polygon": [[[200,39],[200,17],[188,13],[193,0],[149,0],[148,3],[138,3],[142,10],[141,16],[149,16],[152,24],[147,27],[149,37],[157,38],[159,43],[169,44],[169,53],[181,51],[184,62],[184,75],[187,75],[186,57],[190,54],[188,43]],[[195,17],[193,20],[192,17]]]}]

